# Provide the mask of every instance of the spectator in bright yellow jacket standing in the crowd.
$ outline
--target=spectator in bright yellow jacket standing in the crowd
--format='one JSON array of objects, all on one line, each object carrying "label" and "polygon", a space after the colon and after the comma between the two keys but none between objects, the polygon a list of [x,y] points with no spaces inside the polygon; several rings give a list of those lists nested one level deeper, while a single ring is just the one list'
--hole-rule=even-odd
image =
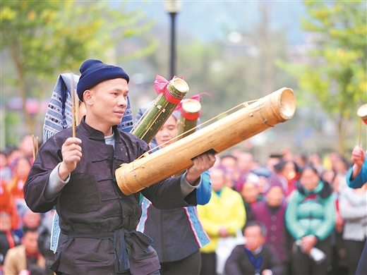
[{"label": "spectator in bright yellow jacket standing in the crowd", "polygon": [[241,195],[225,186],[224,171],[210,169],[212,197],[205,205],[198,205],[198,214],[211,243],[200,249],[200,274],[216,274],[217,241],[219,238],[236,236],[236,231],[243,228],[246,212]]}]

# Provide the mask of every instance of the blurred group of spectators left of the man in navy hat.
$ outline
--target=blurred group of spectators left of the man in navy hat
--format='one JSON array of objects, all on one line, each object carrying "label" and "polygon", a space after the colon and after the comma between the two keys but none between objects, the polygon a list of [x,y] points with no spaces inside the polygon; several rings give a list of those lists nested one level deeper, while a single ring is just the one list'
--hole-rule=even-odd
[{"label": "blurred group of spectators left of the man in navy hat", "polygon": [[[24,200],[24,184],[33,162],[32,136],[25,135],[18,147],[0,152],[0,274],[48,275],[42,243],[42,224],[52,213],[32,212]],[[49,245],[48,245],[49,250]]]}]

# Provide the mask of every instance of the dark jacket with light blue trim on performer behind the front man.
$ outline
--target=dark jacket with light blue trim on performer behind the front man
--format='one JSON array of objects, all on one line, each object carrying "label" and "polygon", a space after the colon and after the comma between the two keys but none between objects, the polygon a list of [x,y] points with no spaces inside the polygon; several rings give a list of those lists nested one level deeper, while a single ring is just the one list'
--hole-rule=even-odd
[{"label": "dark jacket with light blue trim on performer behind the front man", "polygon": [[[207,204],[212,195],[209,171],[201,174],[201,184],[196,189],[198,204]],[[160,210],[146,198],[137,230],[153,238],[152,247],[161,263],[184,259],[210,243],[210,238],[200,223],[196,207]]]}]

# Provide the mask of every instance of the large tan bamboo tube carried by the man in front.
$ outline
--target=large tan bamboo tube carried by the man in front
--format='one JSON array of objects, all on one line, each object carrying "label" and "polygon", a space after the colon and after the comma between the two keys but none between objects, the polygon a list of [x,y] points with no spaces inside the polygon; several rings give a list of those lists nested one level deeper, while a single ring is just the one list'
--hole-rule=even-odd
[{"label": "large tan bamboo tube carried by the man in front", "polygon": [[245,108],[226,116],[172,145],[123,164],[116,169],[116,181],[125,195],[137,193],[164,178],[188,169],[191,159],[205,152],[215,154],[289,120],[296,110],[296,97],[282,88]]}]

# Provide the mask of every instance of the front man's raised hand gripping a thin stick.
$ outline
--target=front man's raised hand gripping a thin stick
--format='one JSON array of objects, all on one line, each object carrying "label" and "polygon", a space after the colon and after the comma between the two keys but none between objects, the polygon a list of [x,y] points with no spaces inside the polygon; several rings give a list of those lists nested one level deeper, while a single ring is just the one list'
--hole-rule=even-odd
[{"label": "front man's raised hand gripping a thin stick", "polygon": [[59,166],[59,176],[62,181],[68,178],[68,175],[76,169],[76,164],[82,157],[82,141],[79,138],[68,138],[61,147],[62,162]]}]

